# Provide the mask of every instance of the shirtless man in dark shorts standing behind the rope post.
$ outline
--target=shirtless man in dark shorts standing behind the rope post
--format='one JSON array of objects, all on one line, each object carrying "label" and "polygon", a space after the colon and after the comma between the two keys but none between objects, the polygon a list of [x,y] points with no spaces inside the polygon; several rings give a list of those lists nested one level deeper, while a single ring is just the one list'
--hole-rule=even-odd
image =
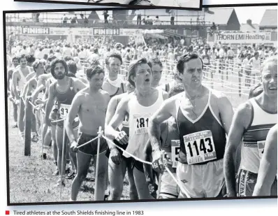
[{"label": "shirtless man in dark shorts standing behind the rope post", "polygon": [[[110,101],[108,92],[101,89],[104,78],[103,69],[101,69],[100,66],[89,68],[86,71],[86,75],[89,81],[89,87],[82,89],[75,95],[65,122],[66,133],[68,134],[71,143],[71,150],[77,152],[78,173],[73,180],[71,188],[72,201],[76,201],[77,199],[78,190],[87,176],[92,157],[94,157],[94,161],[96,161],[98,140],[96,139],[79,149],[78,146],[98,137],[99,127],[104,129],[105,114]],[[76,115],[78,115],[80,119],[80,134],[78,138],[76,138],[73,131],[73,122]],[[107,187],[108,159],[105,156],[107,147],[108,145],[105,139],[101,138],[101,145],[98,154],[98,188],[95,188],[95,201],[103,201],[105,189]],[[94,164],[94,168],[96,168],[96,164]]]}]

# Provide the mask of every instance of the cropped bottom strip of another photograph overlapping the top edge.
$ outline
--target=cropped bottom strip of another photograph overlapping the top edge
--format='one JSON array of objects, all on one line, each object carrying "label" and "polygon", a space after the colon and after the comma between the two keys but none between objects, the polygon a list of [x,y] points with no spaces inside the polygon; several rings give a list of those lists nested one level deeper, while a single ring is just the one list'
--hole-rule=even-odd
[{"label": "cropped bottom strip of another photograph overlapping the top edge", "polygon": [[[14,0],[30,1],[30,0]],[[203,0],[31,0],[48,3],[78,3],[98,6],[136,6],[141,8],[191,8],[201,10]]]}]

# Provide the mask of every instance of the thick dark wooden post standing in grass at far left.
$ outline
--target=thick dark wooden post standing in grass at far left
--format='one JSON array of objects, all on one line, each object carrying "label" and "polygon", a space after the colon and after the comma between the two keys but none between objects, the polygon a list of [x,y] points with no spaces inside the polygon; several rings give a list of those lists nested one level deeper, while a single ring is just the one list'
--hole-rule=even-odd
[{"label": "thick dark wooden post standing in grass at far left", "polygon": [[32,106],[28,100],[25,101],[25,141],[24,141],[24,156],[31,155],[31,122],[32,122]]}]

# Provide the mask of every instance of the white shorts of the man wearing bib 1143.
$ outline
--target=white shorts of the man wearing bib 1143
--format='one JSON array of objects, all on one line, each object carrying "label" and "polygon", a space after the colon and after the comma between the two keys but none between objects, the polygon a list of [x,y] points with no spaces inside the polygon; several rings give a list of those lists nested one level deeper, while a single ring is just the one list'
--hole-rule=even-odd
[{"label": "white shorts of the man wearing bib 1143", "polygon": [[[191,198],[217,197],[224,186],[223,159],[203,165],[178,162],[177,180],[180,180]],[[180,191],[179,198],[186,198]]]}]

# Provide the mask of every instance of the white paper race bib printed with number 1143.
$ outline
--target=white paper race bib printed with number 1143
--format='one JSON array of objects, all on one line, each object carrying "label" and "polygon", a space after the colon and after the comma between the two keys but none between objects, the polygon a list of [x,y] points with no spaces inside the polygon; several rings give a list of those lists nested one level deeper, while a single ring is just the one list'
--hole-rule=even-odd
[{"label": "white paper race bib printed with number 1143", "polygon": [[188,164],[198,164],[217,158],[212,131],[200,131],[184,136]]}]

